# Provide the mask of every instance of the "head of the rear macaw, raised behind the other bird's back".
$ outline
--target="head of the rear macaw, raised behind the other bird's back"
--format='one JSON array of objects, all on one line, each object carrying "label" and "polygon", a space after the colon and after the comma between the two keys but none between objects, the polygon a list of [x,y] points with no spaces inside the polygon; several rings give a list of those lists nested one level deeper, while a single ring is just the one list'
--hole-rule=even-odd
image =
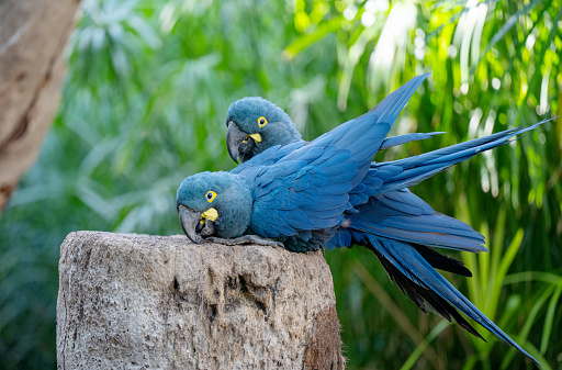
[{"label": "head of the rear macaw, raised behind the other bird's back", "polygon": [[226,115],[226,146],[234,161],[246,161],[274,146],[299,142],[301,134],[289,115],[259,97],[231,104]]}]

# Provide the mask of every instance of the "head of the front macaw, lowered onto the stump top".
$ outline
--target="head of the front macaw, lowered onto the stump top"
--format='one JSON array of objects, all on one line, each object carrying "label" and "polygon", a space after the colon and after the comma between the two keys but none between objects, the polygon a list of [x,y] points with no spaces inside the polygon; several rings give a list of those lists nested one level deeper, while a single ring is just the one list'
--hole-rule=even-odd
[{"label": "head of the front macaw, lowered onto the stump top", "polygon": [[209,236],[241,236],[252,211],[248,187],[228,172],[187,177],[178,189],[176,204],[183,233],[195,244]]}]

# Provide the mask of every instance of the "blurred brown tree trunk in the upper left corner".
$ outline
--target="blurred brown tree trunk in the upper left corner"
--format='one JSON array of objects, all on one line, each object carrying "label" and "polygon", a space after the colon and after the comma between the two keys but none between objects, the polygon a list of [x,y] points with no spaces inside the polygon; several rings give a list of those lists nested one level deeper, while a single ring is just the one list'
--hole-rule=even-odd
[{"label": "blurred brown tree trunk in the upper left corner", "polygon": [[55,115],[78,4],[0,1],[0,213]]}]

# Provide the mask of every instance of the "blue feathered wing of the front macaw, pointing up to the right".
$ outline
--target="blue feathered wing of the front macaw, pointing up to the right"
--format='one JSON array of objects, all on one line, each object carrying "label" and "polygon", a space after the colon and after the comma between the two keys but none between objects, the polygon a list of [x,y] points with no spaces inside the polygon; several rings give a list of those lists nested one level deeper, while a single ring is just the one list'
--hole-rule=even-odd
[{"label": "blue feathered wing of the front macaw, pointing up to the right", "polygon": [[396,116],[427,76],[413,78],[370,112],[307,145],[295,143],[290,154],[270,148],[234,170],[250,184],[251,231],[279,237],[341,224],[344,212],[352,209],[350,191],[364,178]]}]

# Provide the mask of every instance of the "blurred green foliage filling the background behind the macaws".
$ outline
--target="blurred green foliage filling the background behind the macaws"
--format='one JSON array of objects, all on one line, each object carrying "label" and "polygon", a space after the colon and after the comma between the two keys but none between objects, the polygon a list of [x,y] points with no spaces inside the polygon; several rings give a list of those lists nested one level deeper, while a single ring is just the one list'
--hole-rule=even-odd
[{"label": "blurred green foliage filling the background behind the macaws", "polygon": [[[181,180],[234,167],[226,110],[285,109],[306,139],[432,75],[392,134],[446,131],[416,155],[562,112],[562,1],[83,0],[69,70],[36,165],[0,220],[0,368],[55,368],[57,262],[77,229],[179,234]],[[448,276],[542,361],[562,369],[562,121],[416,186],[487,237]],[[527,369],[425,315],[367,250],[326,253],[349,369]]]}]

